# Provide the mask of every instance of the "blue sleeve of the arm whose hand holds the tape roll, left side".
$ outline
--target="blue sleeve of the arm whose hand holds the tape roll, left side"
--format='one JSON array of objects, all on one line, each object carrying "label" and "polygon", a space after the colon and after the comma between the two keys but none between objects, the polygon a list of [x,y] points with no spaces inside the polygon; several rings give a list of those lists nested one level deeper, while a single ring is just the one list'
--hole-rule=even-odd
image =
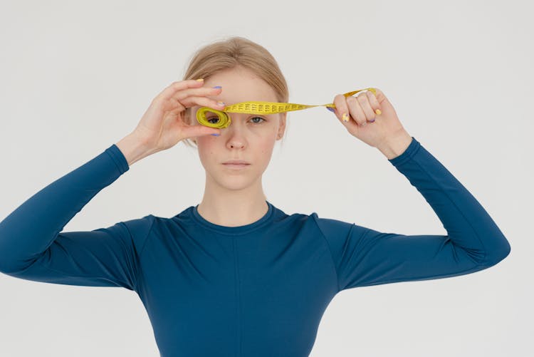
[{"label": "blue sleeve of the arm whose hand holds the tape roll, left side", "polygon": [[154,216],[90,232],[61,232],[100,190],[129,170],[115,144],[23,202],[0,222],[0,271],[81,286],[137,286],[138,257]]}]

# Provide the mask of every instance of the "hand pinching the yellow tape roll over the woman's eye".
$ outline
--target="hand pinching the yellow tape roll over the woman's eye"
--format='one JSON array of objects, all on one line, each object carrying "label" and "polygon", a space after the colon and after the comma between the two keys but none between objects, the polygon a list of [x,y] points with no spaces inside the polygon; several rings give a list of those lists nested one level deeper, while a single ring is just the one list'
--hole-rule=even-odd
[{"label": "hand pinching the yellow tape roll over the woman's eye", "polygon": [[220,134],[221,130],[205,125],[188,125],[184,122],[184,111],[194,105],[221,110],[216,100],[206,95],[218,95],[221,88],[203,87],[204,81],[188,79],[177,81],[162,90],[150,103],[137,127],[133,131],[145,148],[153,152],[172,148],[179,141],[201,135]]}]

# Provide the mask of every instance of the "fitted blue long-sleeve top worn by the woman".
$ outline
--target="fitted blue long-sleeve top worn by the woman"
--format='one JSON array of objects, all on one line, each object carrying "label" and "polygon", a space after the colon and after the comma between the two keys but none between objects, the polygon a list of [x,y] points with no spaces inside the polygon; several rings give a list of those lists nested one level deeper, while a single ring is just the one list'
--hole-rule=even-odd
[{"label": "fitted blue long-sleeve top worn by the woman", "polygon": [[62,232],[129,170],[115,144],[0,222],[0,271],[53,284],[120,286],[147,310],[162,357],[308,356],[326,307],[344,289],[441,279],[491,267],[510,244],[493,219],[415,138],[389,162],[446,235],[379,232],[337,219],[268,212],[239,227],[191,206],[90,232]]}]

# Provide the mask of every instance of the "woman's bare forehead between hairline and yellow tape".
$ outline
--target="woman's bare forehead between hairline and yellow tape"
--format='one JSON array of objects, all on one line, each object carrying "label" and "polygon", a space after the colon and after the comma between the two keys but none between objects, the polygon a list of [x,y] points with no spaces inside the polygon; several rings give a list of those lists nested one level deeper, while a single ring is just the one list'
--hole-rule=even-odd
[{"label": "woman's bare forehead between hairline and yellow tape", "polygon": [[221,100],[226,105],[248,100],[278,102],[273,88],[246,68],[231,68],[215,73],[204,81],[204,86],[222,86],[219,95],[208,95],[208,98]]}]

